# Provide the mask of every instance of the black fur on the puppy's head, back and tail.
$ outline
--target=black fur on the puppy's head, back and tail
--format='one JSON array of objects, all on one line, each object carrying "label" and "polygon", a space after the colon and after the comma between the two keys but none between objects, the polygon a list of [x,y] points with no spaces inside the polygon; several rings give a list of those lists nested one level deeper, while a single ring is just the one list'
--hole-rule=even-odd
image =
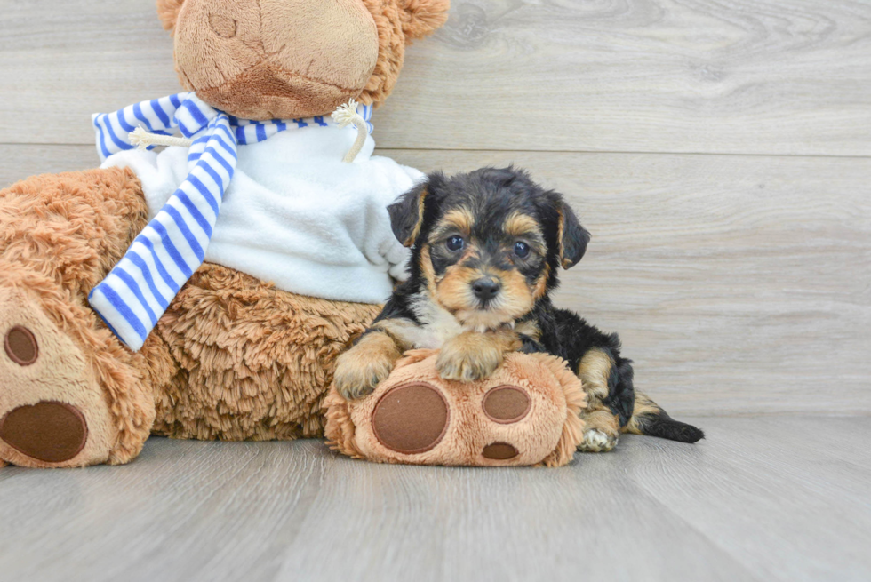
[{"label": "black fur on the puppy's head, back and tail", "polygon": [[[604,333],[579,315],[555,307],[548,297],[559,284],[558,269],[570,268],[579,262],[587,251],[590,235],[562,195],[539,187],[524,171],[512,167],[483,168],[451,178],[435,172],[429,175],[427,182],[388,207],[396,238],[412,246],[411,276],[396,288],[375,322],[404,318],[420,324],[412,310],[411,299],[426,289],[420,267],[421,242],[429,240],[438,219],[456,208],[469,209],[475,216],[472,235],[482,246],[481,260],[491,261],[499,268],[516,268],[529,282],[535,281],[547,267],[547,293],[518,320],[518,323],[534,322],[540,331],[537,339],[521,336],[523,351],[559,355],[572,370],[578,370],[581,359],[590,349],[610,355],[614,365],[608,379],[609,394],[603,403],[617,416],[620,426],[626,427],[632,418],[635,388],[632,361],[620,355],[618,335]],[[525,260],[514,257],[507,265],[505,251],[501,250],[506,244],[501,225],[512,212],[535,219],[544,240],[540,241],[540,252],[535,257]],[[449,253],[429,248],[434,271],[440,274],[450,266],[452,259]],[[646,435],[682,442],[696,442],[703,436],[698,428],[671,419],[665,411],[647,414],[638,420]]]}]

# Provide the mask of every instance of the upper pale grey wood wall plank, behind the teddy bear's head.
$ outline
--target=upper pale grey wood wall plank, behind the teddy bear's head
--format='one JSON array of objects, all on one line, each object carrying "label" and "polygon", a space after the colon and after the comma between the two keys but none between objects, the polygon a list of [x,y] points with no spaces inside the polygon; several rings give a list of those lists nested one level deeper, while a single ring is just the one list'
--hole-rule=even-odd
[{"label": "upper pale grey wood wall plank, behind the teddy bear's head", "polygon": [[[0,143],[179,90],[152,0],[5,0]],[[454,0],[382,147],[871,155],[871,4]]]}]

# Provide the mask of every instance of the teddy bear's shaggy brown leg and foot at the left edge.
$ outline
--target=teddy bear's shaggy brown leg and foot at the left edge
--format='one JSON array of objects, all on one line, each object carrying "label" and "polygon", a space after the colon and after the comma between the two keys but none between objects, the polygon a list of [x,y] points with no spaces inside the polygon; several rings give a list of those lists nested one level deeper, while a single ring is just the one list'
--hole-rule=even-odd
[{"label": "teddy bear's shaggy brown leg and foot at the left edge", "polygon": [[139,181],[124,170],[36,176],[0,191],[4,463],[124,463],[148,438],[146,360],[86,299],[146,219]]}]

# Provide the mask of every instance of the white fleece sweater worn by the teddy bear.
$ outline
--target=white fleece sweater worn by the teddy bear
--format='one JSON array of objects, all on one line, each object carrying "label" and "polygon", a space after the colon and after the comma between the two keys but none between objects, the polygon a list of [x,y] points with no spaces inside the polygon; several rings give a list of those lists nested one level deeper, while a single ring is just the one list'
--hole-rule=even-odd
[{"label": "white fleece sweater worn by the teddy bear", "polygon": [[[324,299],[386,301],[391,277],[404,280],[408,251],[390,228],[387,206],[423,178],[373,156],[366,139],[354,163],[342,157],[356,130],[335,124],[289,128],[239,144],[205,260]],[[188,176],[188,148],[159,154],[133,149],[101,167],[129,167],[142,182],[153,218]]]}]

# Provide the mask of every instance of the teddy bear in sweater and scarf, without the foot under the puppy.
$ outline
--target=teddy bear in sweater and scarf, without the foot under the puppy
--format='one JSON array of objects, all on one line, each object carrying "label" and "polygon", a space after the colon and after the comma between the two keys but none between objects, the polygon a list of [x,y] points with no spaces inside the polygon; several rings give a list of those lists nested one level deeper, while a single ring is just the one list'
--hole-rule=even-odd
[{"label": "teddy bear in sweater and scarf, without the foot under the puppy", "polygon": [[95,116],[100,168],[0,191],[0,466],[323,435],[420,175],[372,155],[369,116],[448,4],[158,0],[186,91]]}]

